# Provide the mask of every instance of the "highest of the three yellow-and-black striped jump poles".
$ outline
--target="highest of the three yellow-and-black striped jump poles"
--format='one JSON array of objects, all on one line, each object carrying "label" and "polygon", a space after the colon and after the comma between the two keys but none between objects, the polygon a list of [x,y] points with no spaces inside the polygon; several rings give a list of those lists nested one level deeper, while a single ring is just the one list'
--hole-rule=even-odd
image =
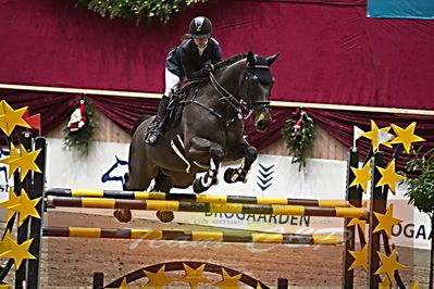
[{"label": "highest of the three yellow-and-black striped jump poles", "polygon": [[311,206],[349,206],[345,200],[309,200],[273,197],[248,197],[225,194],[196,194],[196,193],[168,193],[153,191],[121,191],[121,190],[79,190],[79,189],[50,189],[46,196],[69,198],[108,198],[127,200],[166,200],[166,201],[195,201],[210,203],[248,203],[248,204],[288,204]]}]

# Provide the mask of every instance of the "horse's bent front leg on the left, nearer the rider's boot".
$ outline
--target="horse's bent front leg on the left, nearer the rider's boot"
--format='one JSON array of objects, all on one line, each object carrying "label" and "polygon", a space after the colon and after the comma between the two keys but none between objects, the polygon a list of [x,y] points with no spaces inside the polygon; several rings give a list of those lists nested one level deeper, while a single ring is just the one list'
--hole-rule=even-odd
[{"label": "horse's bent front leg on the left, nearer the rider's boot", "polygon": [[193,189],[196,193],[206,191],[218,183],[219,168],[224,159],[223,147],[220,143],[206,138],[194,137],[188,149],[188,156],[190,160],[196,160],[202,164],[208,163],[208,160],[211,159],[207,174],[193,183]]}]

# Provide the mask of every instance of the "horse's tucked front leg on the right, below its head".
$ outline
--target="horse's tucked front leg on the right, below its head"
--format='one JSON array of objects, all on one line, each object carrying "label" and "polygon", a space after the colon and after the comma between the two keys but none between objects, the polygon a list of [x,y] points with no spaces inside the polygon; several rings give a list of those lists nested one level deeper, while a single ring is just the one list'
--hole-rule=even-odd
[{"label": "horse's tucked front leg on the right, below its head", "polygon": [[236,181],[247,181],[247,173],[250,171],[252,163],[258,158],[258,151],[253,146],[248,143],[243,143],[239,146],[239,150],[243,153],[244,158],[241,161],[241,165],[238,168],[228,167],[226,172],[224,172],[224,180],[226,183],[236,183]]}]

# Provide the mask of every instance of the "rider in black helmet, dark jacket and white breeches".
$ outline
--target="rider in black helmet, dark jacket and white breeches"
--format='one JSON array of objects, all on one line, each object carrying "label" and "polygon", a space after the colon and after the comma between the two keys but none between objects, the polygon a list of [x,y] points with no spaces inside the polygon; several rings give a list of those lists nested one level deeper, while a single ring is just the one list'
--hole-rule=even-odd
[{"label": "rider in black helmet, dark jacket and white breeches", "polygon": [[197,16],[190,22],[187,39],[169,52],[165,61],[165,90],[156,118],[149,125],[145,136],[146,143],[157,146],[164,133],[163,120],[175,86],[184,77],[191,79],[209,76],[213,64],[222,61],[220,45],[214,38],[211,38],[211,21],[204,16]]}]

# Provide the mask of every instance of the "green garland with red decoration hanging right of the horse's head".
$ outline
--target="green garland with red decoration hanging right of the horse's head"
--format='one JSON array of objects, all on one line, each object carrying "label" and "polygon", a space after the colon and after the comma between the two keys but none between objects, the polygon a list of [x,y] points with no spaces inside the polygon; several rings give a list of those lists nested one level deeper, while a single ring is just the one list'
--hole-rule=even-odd
[{"label": "green garland with red decoration hanging right of the horse's head", "polygon": [[298,171],[306,166],[305,152],[313,144],[313,120],[303,111],[299,117],[286,121],[282,128],[288,153],[293,155],[293,164],[299,163]]}]

